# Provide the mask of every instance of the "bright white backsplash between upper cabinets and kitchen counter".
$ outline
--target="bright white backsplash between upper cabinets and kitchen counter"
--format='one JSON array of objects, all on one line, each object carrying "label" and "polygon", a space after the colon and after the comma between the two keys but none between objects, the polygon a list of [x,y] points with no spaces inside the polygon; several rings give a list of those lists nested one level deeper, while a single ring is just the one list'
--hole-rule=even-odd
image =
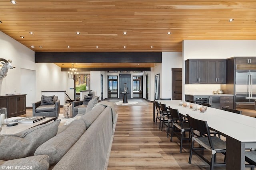
[{"label": "bright white backsplash between upper cabinets and kitchen counter", "polygon": [[185,84],[184,94],[213,94],[214,90],[219,90],[220,84]]}]

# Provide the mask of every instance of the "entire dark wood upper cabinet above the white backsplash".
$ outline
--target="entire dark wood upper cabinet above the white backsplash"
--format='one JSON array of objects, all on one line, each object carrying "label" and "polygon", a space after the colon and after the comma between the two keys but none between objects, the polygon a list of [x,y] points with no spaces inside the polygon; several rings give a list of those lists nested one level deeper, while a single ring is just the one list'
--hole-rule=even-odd
[{"label": "entire dark wood upper cabinet above the white backsplash", "polygon": [[188,59],[186,84],[226,84],[226,59]]}]

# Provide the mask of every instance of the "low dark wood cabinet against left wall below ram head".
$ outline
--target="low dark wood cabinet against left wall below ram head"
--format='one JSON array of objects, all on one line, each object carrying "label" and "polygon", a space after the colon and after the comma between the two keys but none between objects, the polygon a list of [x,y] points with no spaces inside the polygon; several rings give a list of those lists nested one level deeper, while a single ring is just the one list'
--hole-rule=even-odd
[{"label": "low dark wood cabinet against left wall below ram head", "polygon": [[26,114],[26,94],[0,96],[0,107],[7,108],[8,118]]}]

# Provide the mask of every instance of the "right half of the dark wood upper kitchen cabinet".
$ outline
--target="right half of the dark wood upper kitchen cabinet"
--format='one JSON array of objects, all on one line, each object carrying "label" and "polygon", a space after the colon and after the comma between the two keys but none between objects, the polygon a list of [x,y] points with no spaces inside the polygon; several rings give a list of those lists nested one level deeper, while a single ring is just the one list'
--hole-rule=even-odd
[{"label": "right half of the dark wood upper kitchen cabinet", "polygon": [[208,61],[208,84],[226,84],[226,60]]}]

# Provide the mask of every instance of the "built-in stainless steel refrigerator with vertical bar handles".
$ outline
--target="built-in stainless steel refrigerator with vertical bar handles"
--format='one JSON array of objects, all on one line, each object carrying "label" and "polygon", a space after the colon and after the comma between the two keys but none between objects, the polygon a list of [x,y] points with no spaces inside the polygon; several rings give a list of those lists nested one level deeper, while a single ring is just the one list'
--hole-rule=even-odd
[{"label": "built-in stainless steel refrigerator with vertical bar handles", "polygon": [[256,70],[252,65],[236,65],[236,109],[254,110],[256,100]]}]

